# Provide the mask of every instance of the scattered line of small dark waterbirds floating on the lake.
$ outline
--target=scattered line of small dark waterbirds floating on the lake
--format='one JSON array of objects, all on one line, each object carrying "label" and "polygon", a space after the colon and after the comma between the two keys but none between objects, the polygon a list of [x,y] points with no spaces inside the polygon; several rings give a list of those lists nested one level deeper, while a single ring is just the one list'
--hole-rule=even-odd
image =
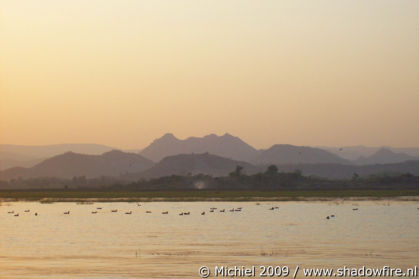
[{"label": "scattered line of small dark waterbirds floating on the lake", "polygon": [[[260,203],[256,203],[256,205],[260,205]],[[142,205],[140,203],[137,203],[137,206],[140,207]],[[243,209],[242,207],[231,208],[231,209],[228,210],[228,212],[241,212],[242,209]],[[352,208],[353,211],[357,211],[358,209],[359,209],[358,207]],[[279,210],[279,206],[272,206],[272,207],[268,208],[268,210],[271,210],[271,211]],[[418,208],[418,210],[419,210],[419,208]],[[30,212],[31,212],[30,209],[24,210],[24,213],[30,213]],[[91,211],[91,214],[97,214],[98,212],[103,212],[103,207],[96,207],[95,210]],[[118,209],[111,209],[110,212],[111,213],[118,213],[119,210]],[[226,209],[225,208],[217,209],[216,207],[209,208],[208,213],[214,213],[214,212],[225,213]],[[7,213],[12,214],[14,217],[19,217],[19,212],[15,212],[14,210],[8,211]],[[70,213],[71,213],[70,210],[67,210],[67,211],[63,212],[64,215],[70,215]],[[132,210],[125,211],[125,215],[131,215],[132,213],[133,213]],[[146,210],[145,213],[146,214],[151,214],[152,211],[151,210]],[[205,215],[206,213],[207,213],[207,211],[202,211],[201,215]],[[169,211],[168,210],[162,211],[161,214],[167,215],[167,214],[169,214]],[[181,211],[180,213],[178,213],[179,216],[188,216],[190,214],[191,214],[190,211]],[[34,212],[34,216],[38,216],[38,212]],[[335,217],[336,217],[335,214],[331,214],[331,215],[326,216],[326,219],[329,220],[329,219],[335,218]]]}]

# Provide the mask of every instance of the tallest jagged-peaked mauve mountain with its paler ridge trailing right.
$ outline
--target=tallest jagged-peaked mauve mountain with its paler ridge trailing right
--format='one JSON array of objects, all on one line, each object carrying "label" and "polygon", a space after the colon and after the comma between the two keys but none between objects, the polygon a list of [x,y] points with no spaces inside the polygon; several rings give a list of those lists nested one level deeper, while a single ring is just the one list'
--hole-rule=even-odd
[{"label": "tallest jagged-peaked mauve mountain with its paler ridge trailing right", "polygon": [[[415,153],[415,148],[406,149]],[[419,148],[417,148],[419,153]],[[419,160],[419,156],[394,152],[385,148],[344,147],[316,148],[276,144],[266,150],[257,150],[230,134],[190,137],[184,140],[165,134],[154,140],[140,154],[158,162],[164,157],[178,154],[205,153],[246,161],[252,164],[390,164]],[[385,153],[385,154],[384,154]],[[352,155],[351,155],[352,154]]]}]

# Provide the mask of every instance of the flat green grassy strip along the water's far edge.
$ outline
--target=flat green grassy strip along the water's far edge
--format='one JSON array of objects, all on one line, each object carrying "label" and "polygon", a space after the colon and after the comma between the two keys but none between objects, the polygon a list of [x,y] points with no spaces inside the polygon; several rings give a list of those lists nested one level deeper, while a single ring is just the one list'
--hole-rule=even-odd
[{"label": "flat green grassy strip along the water's far edge", "polygon": [[339,190],[339,191],[77,191],[25,190],[0,191],[8,201],[77,202],[86,200],[116,201],[264,201],[384,199],[410,197],[419,199],[419,190]]}]

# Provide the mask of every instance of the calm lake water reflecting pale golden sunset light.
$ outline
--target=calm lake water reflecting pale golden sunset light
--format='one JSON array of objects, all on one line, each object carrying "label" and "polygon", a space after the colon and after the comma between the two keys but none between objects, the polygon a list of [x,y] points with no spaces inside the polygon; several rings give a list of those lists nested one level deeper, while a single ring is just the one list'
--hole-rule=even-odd
[{"label": "calm lake water reflecting pale golden sunset light", "polygon": [[[279,209],[269,210],[273,206]],[[210,213],[211,207],[217,210]],[[242,211],[229,211],[237,207]],[[203,265],[409,268],[419,262],[418,207],[395,201],[3,202],[0,278],[200,278]],[[184,211],[190,215],[180,216]]]}]

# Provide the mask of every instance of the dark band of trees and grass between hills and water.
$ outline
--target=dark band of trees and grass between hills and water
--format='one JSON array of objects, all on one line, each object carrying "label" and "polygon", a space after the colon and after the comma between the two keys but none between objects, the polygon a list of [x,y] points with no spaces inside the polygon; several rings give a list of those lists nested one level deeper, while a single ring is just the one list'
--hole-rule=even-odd
[{"label": "dark band of trees and grass between hills and water", "polygon": [[[350,180],[307,177],[299,171],[280,173],[272,165],[264,173],[245,175],[237,168],[226,177],[166,176],[137,182],[114,179],[56,178],[3,182],[0,199],[54,201],[249,201],[380,199],[419,196],[419,177],[411,174],[376,175]],[[15,187],[13,187],[15,186]],[[17,186],[17,187],[16,187]]]}]

